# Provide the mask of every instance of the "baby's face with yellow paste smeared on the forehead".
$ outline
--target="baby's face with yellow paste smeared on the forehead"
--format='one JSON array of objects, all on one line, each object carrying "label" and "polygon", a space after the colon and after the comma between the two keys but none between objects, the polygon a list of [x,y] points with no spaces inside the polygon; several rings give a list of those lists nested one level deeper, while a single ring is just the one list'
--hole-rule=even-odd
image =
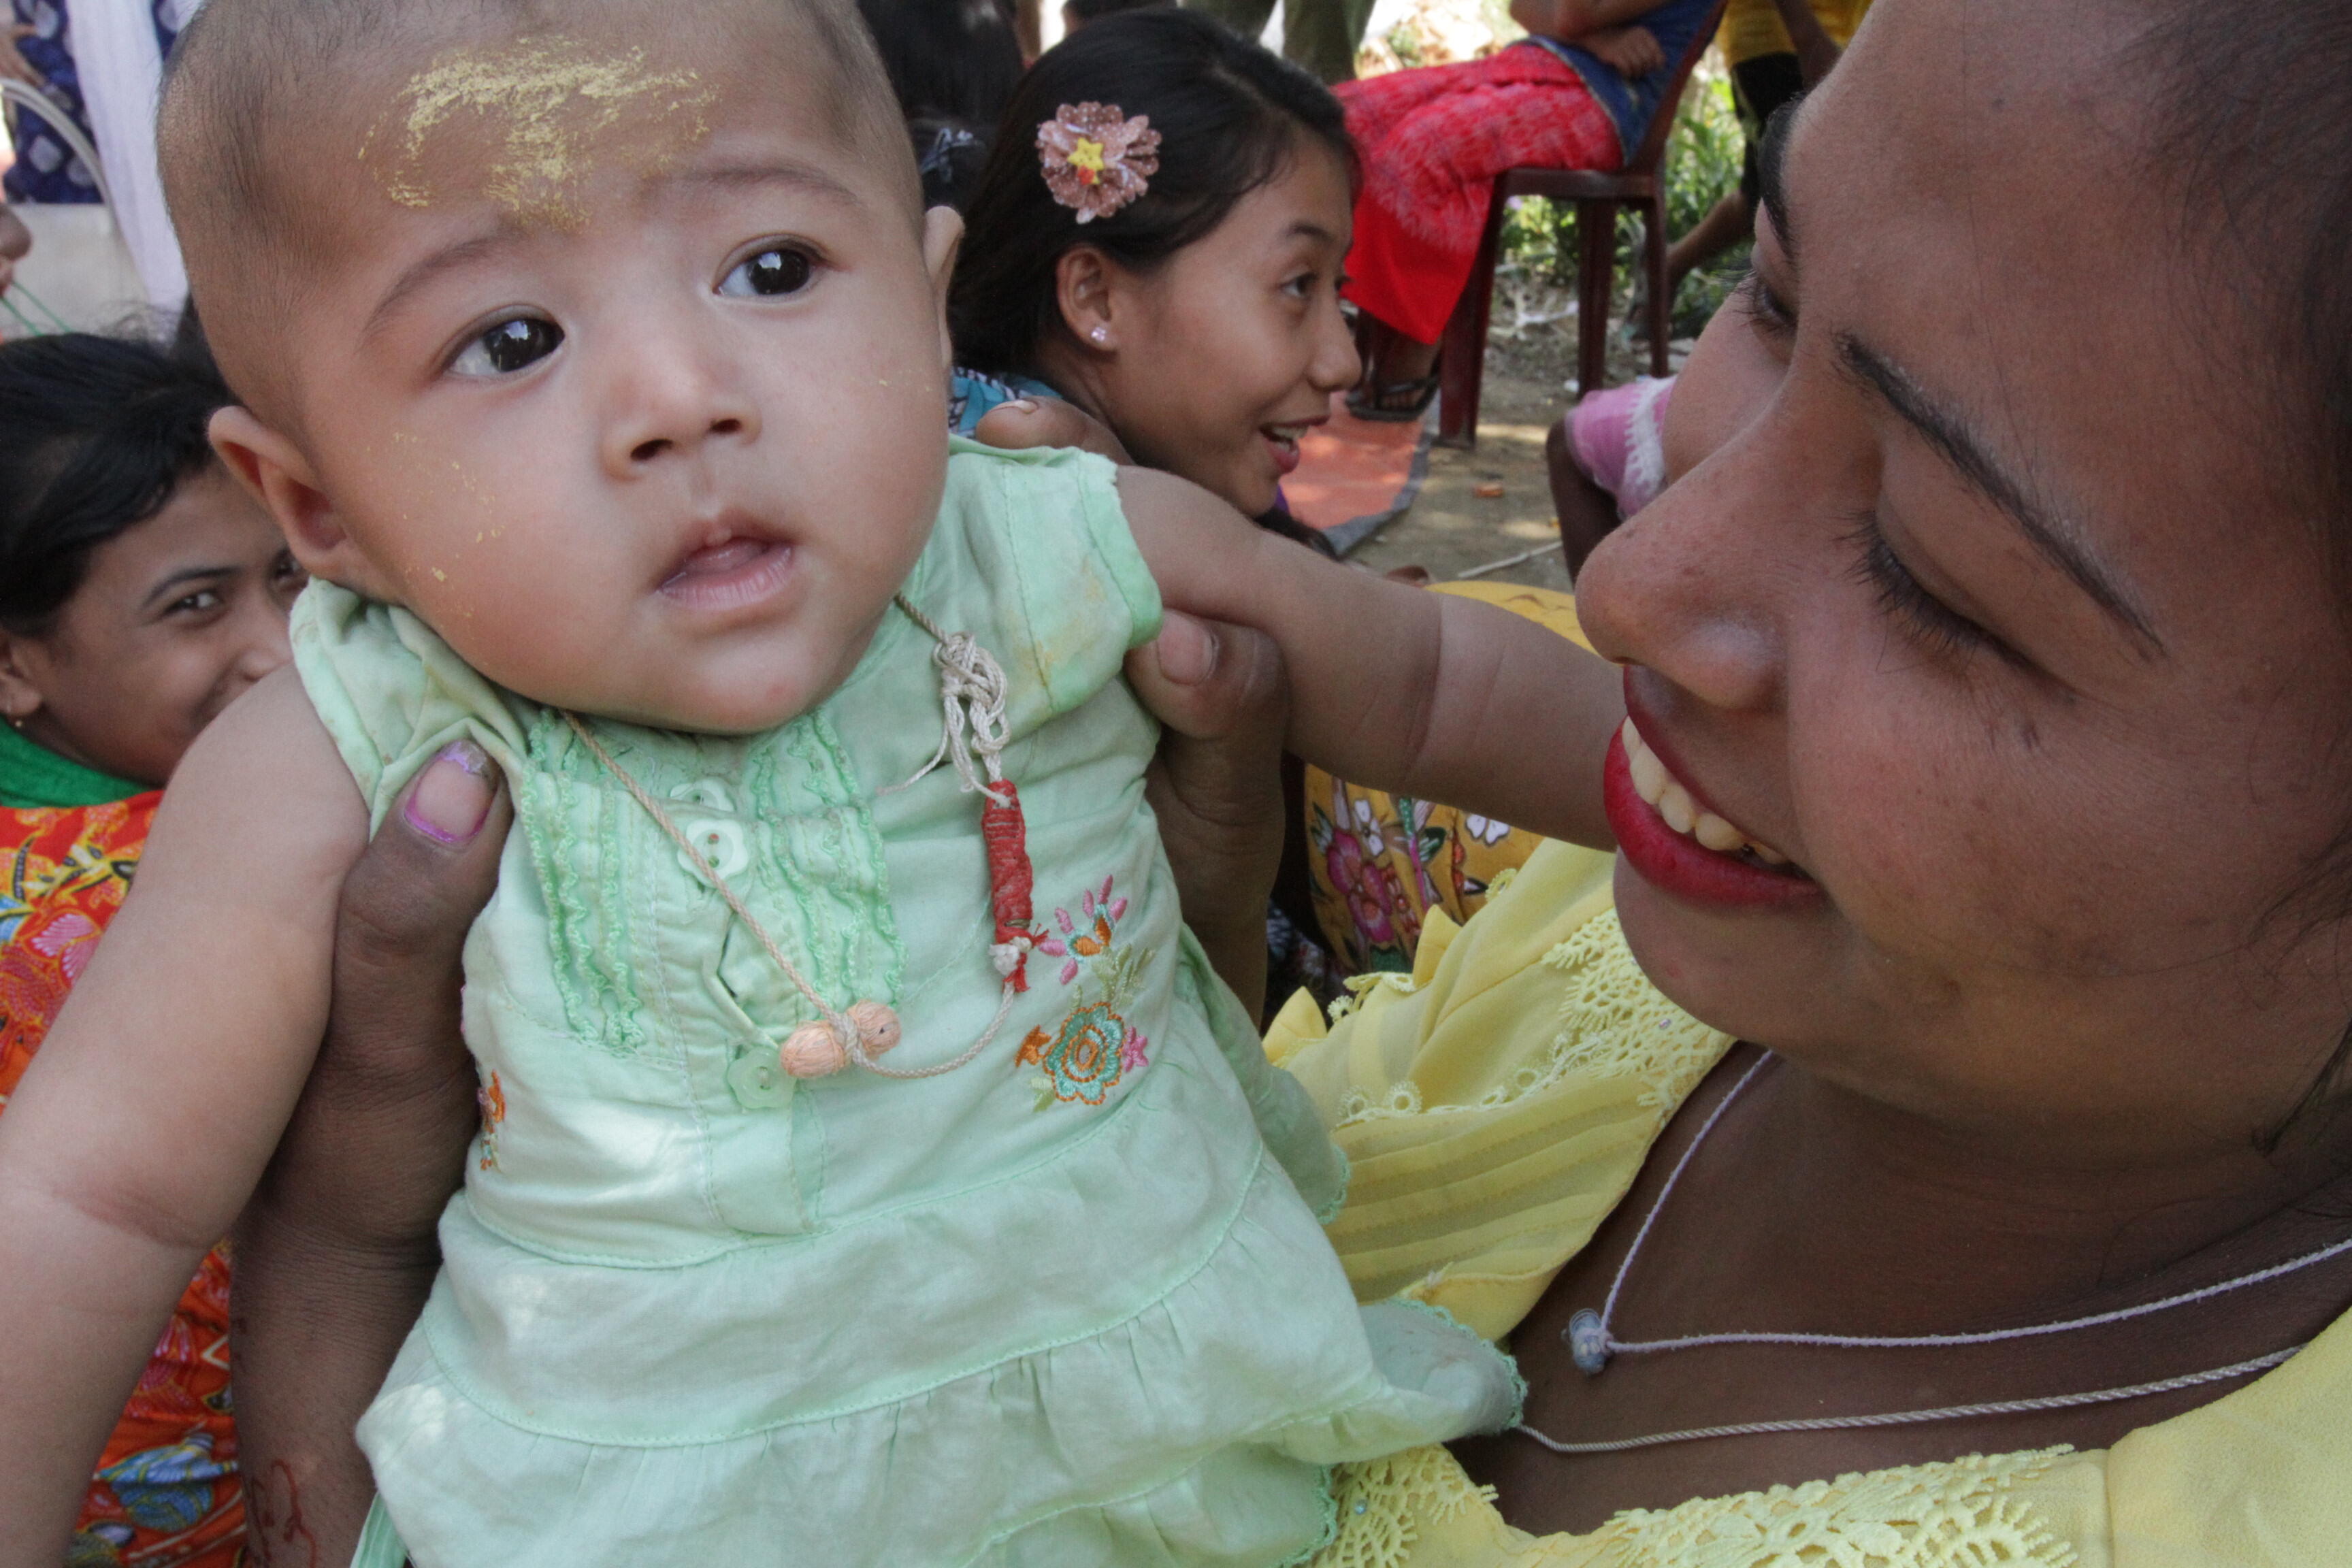
[{"label": "baby's face with yellow paste smeared on the forehead", "polygon": [[830,118],[774,68],[562,42],[400,87],[339,165],[365,242],[282,334],[303,564],[541,703],[816,705],[938,508],[957,235]]}]

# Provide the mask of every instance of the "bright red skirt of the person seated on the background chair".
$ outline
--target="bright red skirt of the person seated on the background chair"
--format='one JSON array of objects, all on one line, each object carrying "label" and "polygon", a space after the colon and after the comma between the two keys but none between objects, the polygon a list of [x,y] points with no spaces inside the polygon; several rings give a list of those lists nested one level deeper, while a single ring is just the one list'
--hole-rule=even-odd
[{"label": "bright red skirt of the person seated on the background chair", "polygon": [[1348,299],[1421,343],[1444,334],[1470,282],[1496,174],[1522,165],[1606,172],[1623,160],[1616,125],[1583,78],[1536,45],[1331,92],[1364,160]]}]

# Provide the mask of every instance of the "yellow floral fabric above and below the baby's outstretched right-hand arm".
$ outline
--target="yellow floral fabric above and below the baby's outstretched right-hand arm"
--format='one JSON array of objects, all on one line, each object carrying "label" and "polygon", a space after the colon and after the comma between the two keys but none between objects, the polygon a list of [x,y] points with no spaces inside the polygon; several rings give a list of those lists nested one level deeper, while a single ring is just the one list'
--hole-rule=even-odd
[{"label": "yellow floral fabric above and below the baby's outstretched right-hand arm", "polygon": [[[1432,592],[1482,599],[1583,642],[1576,599],[1550,588],[1439,583]],[[1305,816],[1315,922],[1343,973],[1409,971],[1430,910],[1468,922],[1543,844],[1510,823],[1362,790],[1322,769],[1308,769]]]}]

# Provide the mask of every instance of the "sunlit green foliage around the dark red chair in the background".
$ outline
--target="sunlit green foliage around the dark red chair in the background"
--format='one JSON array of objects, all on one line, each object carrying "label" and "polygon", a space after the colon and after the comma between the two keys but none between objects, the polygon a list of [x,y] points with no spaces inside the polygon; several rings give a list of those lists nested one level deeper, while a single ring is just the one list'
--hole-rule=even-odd
[{"label": "sunlit green foliage around the dark red chair in the background", "polygon": [[[1745,134],[1731,108],[1731,80],[1703,61],[1682,94],[1675,132],[1665,143],[1665,228],[1668,237],[1689,233],[1708,209],[1740,183]],[[1611,320],[1621,320],[1642,273],[1642,216],[1618,212],[1616,299]],[[1691,273],[1675,299],[1675,336],[1693,336],[1724,303],[1748,268],[1748,244],[1717,256]],[[1524,197],[1503,214],[1501,273],[1522,289],[1576,294],[1576,209],[1571,202]]]}]

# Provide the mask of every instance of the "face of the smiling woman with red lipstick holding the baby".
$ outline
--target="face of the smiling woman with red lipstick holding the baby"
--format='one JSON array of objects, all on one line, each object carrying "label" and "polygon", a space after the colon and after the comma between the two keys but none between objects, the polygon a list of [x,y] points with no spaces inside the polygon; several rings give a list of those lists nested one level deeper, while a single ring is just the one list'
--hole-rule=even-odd
[{"label": "face of the smiling woman with red lipstick holding the baby", "polygon": [[1616,790],[1658,985],[2086,1164],[2244,1152],[2352,1016],[2281,910],[2352,816],[2340,588],[2133,9],[1877,7],[1684,371],[1689,473],[1578,578],[1658,762],[1809,875]]}]

